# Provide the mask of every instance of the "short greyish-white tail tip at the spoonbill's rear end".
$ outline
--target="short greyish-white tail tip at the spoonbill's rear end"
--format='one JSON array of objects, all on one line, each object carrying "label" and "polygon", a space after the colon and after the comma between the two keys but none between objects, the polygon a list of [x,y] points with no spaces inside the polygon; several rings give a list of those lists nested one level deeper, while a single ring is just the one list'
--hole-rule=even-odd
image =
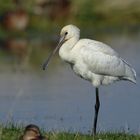
[{"label": "short greyish-white tail tip at the spoonbill's rear end", "polygon": [[123,78],[136,84],[136,72],[127,62],[125,62],[125,76]]}]

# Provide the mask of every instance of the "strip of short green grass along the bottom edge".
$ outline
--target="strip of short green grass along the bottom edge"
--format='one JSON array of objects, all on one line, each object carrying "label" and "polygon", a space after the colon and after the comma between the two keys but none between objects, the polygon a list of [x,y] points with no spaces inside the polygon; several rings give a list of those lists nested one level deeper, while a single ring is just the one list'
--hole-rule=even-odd
[{"label": "strip of short green grass along the bottom edge", "polygon": [[[0,140],[18,140],[23,132],[23,127],[8,125],[0,126]],[[140,140],[138,134],[126,133],[100,133],[96,137],[87,134],[70,133],[70,132],[44,132],[43,135],[48,140]]]}]

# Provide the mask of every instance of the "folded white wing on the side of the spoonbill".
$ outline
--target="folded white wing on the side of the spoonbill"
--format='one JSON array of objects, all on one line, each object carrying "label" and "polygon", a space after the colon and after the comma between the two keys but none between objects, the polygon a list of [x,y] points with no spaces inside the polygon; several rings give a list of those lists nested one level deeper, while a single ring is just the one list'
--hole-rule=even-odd
[{"label": "folded white wing on the side of the spoonbill", "polygon": [[83,63],[96,74],[125,76],[125,64],[109,46],[89,40],[80,50]]}]

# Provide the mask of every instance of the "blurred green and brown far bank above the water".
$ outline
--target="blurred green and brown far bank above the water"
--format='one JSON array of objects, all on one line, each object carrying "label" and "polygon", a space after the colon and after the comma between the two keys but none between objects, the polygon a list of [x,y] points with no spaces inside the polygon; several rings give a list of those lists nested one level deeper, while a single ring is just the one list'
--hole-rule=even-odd
[{"label": "blurred green and brown far bank above the water", "polygon": [[137,34],[139,7],[139,0],[0,0],[1,69],[11,64],[38,68],[66,24],[95,39]]}]

